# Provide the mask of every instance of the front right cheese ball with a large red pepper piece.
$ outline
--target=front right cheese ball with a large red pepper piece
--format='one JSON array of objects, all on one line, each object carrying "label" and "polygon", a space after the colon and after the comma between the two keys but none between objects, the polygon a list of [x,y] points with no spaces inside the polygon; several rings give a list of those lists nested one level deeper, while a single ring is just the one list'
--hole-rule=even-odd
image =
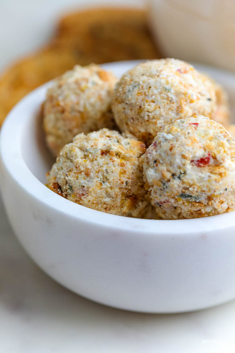
[{"label": "front right cheese ball with a large red pepper piece", "polygon": [[235,210],[235,141],[214,120],[196,114],[175,120],[142,159],[146,189],[163,219]]}]

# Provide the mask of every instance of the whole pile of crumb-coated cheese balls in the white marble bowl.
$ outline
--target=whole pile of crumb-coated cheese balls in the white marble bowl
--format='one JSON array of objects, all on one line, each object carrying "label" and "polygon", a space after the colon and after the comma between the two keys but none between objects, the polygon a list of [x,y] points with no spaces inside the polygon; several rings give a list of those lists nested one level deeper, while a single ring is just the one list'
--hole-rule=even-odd
[{"label": "whole pile of crumb-coated cheese balls in the white marble bowl", "polygon": [[70,201],[150,219],[235,210],[227,95],[184,61],[147,61],[119,81],[75,66],[48,90],[43,125],[57,155],[47,185]]}]

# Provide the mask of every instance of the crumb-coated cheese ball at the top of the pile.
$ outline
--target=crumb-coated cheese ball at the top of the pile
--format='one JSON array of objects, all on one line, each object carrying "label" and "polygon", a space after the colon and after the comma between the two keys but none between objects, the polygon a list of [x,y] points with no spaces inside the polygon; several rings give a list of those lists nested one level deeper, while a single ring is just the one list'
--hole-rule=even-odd
[{"label": "crumb-coated cheese ball at the top of the pile", "polygon": [[161,59],[141,63],[116,84],[112,110],[121,131],[150,145],[157,132],[193,113],[209,118],[216,94],[211,80],[187,62]]}]

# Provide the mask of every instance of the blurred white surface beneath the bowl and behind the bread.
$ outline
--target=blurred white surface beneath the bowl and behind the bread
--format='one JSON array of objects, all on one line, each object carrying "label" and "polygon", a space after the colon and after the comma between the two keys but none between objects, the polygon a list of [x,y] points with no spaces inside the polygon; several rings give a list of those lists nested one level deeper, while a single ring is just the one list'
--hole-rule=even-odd
[{"label": "blurred white surface beneath the bowl and behind the bread", "polygon": [[[87,3],[0,1],[0,70],[44,43],[65,8]],[[1,353],[230,353],[234,333],[235,301],[198,312],[151,315],[111,309],[69,292],[24,252],[0,198]]]}]

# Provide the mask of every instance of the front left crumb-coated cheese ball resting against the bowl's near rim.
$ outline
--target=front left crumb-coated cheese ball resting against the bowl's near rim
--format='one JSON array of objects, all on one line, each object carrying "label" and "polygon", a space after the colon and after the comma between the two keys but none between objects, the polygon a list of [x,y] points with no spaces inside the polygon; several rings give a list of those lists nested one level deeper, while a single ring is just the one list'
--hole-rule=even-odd
[{"label": "front left crumb-coated cheese ball resting against the bowl's near rim", "polygon": [[146,213],[147,191],[139,157],[143,142],[101,129],[78,134],[47,175],[49,188],[80,205],[120,216]]}]

